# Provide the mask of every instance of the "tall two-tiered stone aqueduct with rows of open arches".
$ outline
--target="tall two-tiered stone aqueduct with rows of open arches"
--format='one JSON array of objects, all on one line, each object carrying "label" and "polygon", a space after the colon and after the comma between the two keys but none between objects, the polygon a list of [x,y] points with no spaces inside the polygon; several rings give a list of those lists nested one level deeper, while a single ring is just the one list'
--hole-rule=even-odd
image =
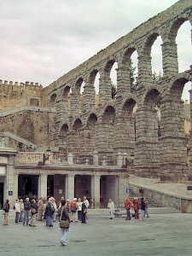
[{"label": "tall two-tiered stone aqueduct with rows of open arches", "polygon": [[[181,95],[184,84],[192,81],[192,66],[178,73],[175,39],[186,20],[192,25],[192,3],[181,0],[49,84],[46,95],[49,102],[56,105],[52,143],[77,158],[92,155],[94,150],[109,158],[116,158],[118,152],[127,153],[128,160],[134,154],[137,175],[183,180],[189,174],[186,151],[191,137],[184,137]],[[163,77],[158,84],[153,84],[151,48],[158,36],[163,42]],[[131,92],[130,59],[134,51],[138,55],[138,89]],[[113,100],[109,74],[114,62],[118,68],[117,96]],[[97,73],[100,79],[96,108]],[[80,86],[83,81],[82,108]],[[69,90],[72,91],[70,102]],[[160,134],[154,108],[159,98]],[[133,114],[136,104],[137,112]]]}]

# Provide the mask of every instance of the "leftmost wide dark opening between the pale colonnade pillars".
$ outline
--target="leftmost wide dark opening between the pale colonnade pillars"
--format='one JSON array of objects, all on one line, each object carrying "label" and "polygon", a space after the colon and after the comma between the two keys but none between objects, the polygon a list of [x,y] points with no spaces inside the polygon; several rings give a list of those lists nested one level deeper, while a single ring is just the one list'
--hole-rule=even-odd
[{"label": "leftmost wide dark opening between the pale colonnade pillars", "polygon": [[18,176],[18,196],[21,198],[38,197],[38,175],[19,175]]}]

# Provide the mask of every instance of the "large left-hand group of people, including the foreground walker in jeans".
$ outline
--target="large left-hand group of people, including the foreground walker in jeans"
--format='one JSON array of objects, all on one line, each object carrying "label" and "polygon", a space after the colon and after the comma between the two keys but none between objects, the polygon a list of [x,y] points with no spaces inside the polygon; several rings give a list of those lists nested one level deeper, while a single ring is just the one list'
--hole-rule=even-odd
[{"label": "large left-hand group of people, including the foreground walker in jeans", "polygon": [[[29,225],[36,227],[36,221],[44,221],[47,227],[53,227],[53,223],[58,218],[58,221],[67,220],[69,224],[71,222],[80,221],[82,224],[86,224],[87,208],[90,203],[86,196],[81,198],[73,198],[73,201],[67,199],[65,201],[64,196],[61,197],[61,201],[56,204],[54,197],[44,199],[40,197],[38,200],[29,197],[25,199],[18,198],[15,200],[15,224],[22,223],[23,225]],[[9,224],[9,200],[6,200],[3,206],[4,225]],[[69,229],[61,227],[61,245],[67,245],[67,234]]]}]

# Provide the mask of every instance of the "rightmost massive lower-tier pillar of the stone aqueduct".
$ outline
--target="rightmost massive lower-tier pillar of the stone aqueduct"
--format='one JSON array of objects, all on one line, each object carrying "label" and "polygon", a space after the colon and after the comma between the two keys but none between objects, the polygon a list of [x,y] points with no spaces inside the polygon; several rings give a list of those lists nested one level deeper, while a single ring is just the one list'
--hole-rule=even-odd
[{"label": "rightmost massive lower-tier pillar of the stone aqueduct", "polygon": [[161,102],[160,177],[182,182],[186,165],[188,138],[184,137],[183,102]]}]

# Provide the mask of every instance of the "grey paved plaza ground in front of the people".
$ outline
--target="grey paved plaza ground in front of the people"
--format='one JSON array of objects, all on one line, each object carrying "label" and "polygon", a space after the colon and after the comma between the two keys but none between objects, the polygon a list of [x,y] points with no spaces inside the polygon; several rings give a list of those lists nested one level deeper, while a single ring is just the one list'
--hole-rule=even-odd
[{"label": "grey paved plaza ground in front of the people", "polygon": [[144,221],[90,217],[87,224],[72,223],[67,247],[61,247],[60,229],[15,224],[0,219],[0,255],[192,255],[192,214],[153,214]]}]

